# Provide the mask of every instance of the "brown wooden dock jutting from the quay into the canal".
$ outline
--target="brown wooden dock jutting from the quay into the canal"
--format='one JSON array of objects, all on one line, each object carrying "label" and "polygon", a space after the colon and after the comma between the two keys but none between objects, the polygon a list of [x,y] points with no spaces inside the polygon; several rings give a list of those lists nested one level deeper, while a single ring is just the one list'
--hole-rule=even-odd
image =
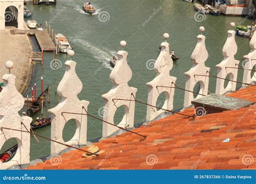
[{"label": "brown wooden dock jutting from the quay into the canal", "polygon": [[25,33],[36,36],[41,51],[55,51],[56,46],[46,30],[26,30]]}]

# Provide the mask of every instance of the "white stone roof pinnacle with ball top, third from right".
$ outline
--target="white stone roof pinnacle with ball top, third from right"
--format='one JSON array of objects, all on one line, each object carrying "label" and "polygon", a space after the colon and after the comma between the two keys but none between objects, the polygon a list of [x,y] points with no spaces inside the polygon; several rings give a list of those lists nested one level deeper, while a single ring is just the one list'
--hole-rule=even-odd
[{"label": "white stone roof pinnacle with ball top, third from right", "polygon": [[[201,26],[199,27],[199,30],[203,32],[205,31],[205,28]],[[193,101],[194,99],[208,94],[209,77],[198,76],[198,75],[209,75],[208,72],[210,71],[210,68],[205,66],[205,61],[208,58],[208,52],[205,46],[205,38],[206,37],[203,36],[203,34],[200,34],[197,36],[197,45],[194,48],[194,51],[191,55],[191,61],[193,63],[193,66],[190,70],[185,72],[185,75],[186,75],[185,89],[188,91],[185,91],[184,108],[190,107],[191,101]],[[197,97],[194,98],[194,94],[189,91],[193,91],[194,87],[198,82],[200,84],[200,90]]]}]

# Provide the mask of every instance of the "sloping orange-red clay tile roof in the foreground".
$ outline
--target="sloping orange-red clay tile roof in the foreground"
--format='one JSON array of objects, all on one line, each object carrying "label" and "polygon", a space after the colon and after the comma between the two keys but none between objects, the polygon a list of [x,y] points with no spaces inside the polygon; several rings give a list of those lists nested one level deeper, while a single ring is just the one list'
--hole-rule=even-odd
[{"label": "sloping orange-red clay tile roof in the foreground", "polygon": [[[227,96],[256,102],[256,87]],[[193,115],[194,108],[183,114]],[[28,169],[256,169],[255,117],[256,104],[194,120],[176,114],[133,130],[147,138],[126,132],[94,143],[105,150],[97,158],[72,150],[58,165],[48,159]]]}]

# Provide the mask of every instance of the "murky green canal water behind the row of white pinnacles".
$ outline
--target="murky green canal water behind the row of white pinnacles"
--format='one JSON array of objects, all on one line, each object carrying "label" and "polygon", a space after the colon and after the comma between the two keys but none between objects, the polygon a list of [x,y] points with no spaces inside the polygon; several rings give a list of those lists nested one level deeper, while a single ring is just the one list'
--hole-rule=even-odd
[{"label": "murky green canal water behind the row of white pinnacles", "polygon": [[[164,41],[163,33],[170,34],[167,40],[170,48],[174,49],[180,59],[174,62],[171,76],[177,77],[177,86],[185,87],[184,72],[192,66],[191,54],[197,43],[197,35],[200,34],[199,26],[205,26],[206,47],[209,53],[206,66],[211,68],[211,73],[216,74],[215,65],[223,59],[222,49],[227,38],[227,31],[231,29],[230,23],[239,23],[243,17],[212,16],[207,15],[203,22],[196,22],[194,14],[196,11],[192,3],[183,1],[125,1],[94,0],[92,5],[97,12],[95,15],[86,15],[82,10],[84,1],[58,0],[57,5],[26,5],[33,13],[32,19],[39,24],[51,21],[51,28],[55,33],[62,33],[68,37],[75,56],[72,60],[77,62],[76,72],[83,82],[83,90],[78,95],[80,100],[90,101],[89,113],[100,117],[98,110],[103,107],[103,94],[112,87],[109,80],[111,67],[108,60],[120,49],[120,40],[125,40],[127,46],[125,51],[129,53],[127,61],[132,69],[131,87],[138,88],[137,98],[147,101],[146,82],[156,76],[154,70],[147,69],[147,60],[157,59],[158,46]],[[99,20],[100,12],[107,12],[109,20]],[[58,13],[60,12],[60,13]],[[155,13],[154,13],[155,12]],[[106,14],[107,15],[107,14]],[[107,16],[108,16],[107,15]],[[153,16],[152,16],[153,15]],[[150,18],[151,17],[151,18]],[[31,18],[26,18],[31,19]],[[146,20],[147,23],[145,22]],[[252,20],[246,20],[245,25],[250,25]],[[249,40],[236,37],[238,53],[235,59],[242,61],[242,56],[250,51]],[[47,109],[55,107],[60,98],[55,94],[55,80],[57,84],[65,72],[64,62],[69,59],[66,54],[58,54],[57,59],[61,61],[62,67],[52,70],[50,61],[53,59],[52,52],[44,54],[44,67],[35,66],[28,94],[31,87],[37,83],[39,94],[40,79],[44,77],[44,85],[50,86],[50,104]],[[242,70],[239,70],[238,80],[242,81]],[[209,91],[214,93],[216,79],[210,79]],[[240,85],[238,84],[238,87]],[[174,96],[174,109],[183,108],[184,91],[176,90]],[[163,104],[164,96],[161,95],[159,102]],[[49,116],[44,109],[44,116]],[[35,119],[41,113],[33,116]],[[118,109],[116,122],[120,121],[123,111]],[[145,120],[146,106],[136,104],[134,124]],[[35,132],[50,138],[50,126],[36,130]],[[88,118],[87,139],[95,140],[102,135],[102,122]],[[75,132],[75,126],[69,123],[64,130],[64,138],[70,139]],[[50,141],[39,138],[37,143],[31,137],[30,159],[41,158],[50,154]]]}]

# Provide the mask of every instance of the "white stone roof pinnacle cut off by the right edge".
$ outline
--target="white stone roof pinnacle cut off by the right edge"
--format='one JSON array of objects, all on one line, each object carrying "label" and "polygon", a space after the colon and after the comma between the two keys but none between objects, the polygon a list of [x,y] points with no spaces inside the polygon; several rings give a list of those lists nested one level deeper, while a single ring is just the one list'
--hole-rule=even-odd
[{"label": "white stone roof pinnacle cut off by the right edge", "polygon": [[[251,51],[244,56],[245,60],[242,62],[242,67],[244,67],[244,76],[242,77],[243,83],[252,83],[256,82],[256,72],[253,72],[254,66],[256,65],[256,33],[253,33],[253,36],[250,41]],[[249,69],[249,70],[248,70]],[[253,72],[253,76],[251,73]],[[242,84],[242,87],[246,87],[246,84]]]}]

